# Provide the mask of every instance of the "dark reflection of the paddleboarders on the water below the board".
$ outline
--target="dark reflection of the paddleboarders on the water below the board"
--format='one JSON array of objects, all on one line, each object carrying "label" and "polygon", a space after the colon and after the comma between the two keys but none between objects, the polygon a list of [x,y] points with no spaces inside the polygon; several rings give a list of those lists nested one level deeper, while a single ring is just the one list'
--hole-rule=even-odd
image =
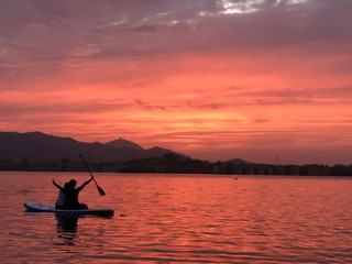
[{"label": "dark reflection of the paddleboarders on the water below the board", "polygon": [[77,235],[78,217],[56,215],[57,237],[64,240],[64,244],[74,245]]}]

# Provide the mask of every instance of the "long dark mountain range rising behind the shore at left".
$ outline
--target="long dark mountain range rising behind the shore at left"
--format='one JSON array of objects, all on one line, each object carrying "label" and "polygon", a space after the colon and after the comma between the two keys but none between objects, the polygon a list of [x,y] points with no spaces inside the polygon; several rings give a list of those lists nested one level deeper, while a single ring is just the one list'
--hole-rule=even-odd
[{"label": "long dark mountain range rising behind the shore at left", "polygon": [[133,158],[163,156],[166,153],[178,154],[161,147],[144,150],[122,139],[102,144],[84,143],[42,132],[0,132],[0,160],[21,162],[23,158],[29,158],[29,162],[52,162],[65,157],[70,161],[80,161],[79,153],[89,162],[125,162]]}]

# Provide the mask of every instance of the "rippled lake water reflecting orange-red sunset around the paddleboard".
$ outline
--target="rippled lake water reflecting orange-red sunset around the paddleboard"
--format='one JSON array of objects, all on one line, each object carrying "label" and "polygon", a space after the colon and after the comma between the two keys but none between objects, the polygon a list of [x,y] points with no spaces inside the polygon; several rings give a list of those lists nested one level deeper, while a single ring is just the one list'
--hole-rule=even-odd
[{"label": "rippled lake water reflecting orange-red sunset around the paddleboard", "polygon": [[352,178],[95,175],[113,218],[24,211],[89,174],[1,172],[0,263],[352,263]]}]

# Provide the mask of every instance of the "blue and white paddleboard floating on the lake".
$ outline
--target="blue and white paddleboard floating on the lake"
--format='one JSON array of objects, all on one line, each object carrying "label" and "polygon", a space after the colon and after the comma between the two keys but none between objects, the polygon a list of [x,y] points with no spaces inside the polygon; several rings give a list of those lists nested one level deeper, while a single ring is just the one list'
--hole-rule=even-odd
[{"label": "blue and white paddleboard floating on the lake", "polygon": [[68,216],[84,216],[84,215],[94,215],[94,216],[113,216],[113,210],[108,208],[102,209],[55,209],[52,206],[45,206],[38,202],[25,201],[24,207],[28,211],[31,212],[55,212],[57,215],[68,215]]}]

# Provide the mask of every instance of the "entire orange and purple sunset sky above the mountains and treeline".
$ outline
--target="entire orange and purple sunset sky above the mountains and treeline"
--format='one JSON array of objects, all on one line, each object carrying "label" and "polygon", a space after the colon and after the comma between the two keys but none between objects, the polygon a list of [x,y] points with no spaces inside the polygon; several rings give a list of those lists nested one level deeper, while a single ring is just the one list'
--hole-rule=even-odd
[{"label": "entire orange and purple sunset sky above the mountains and treeline", "polygon": [[352,0],[0,0],[0,131],[352,164]]}]

